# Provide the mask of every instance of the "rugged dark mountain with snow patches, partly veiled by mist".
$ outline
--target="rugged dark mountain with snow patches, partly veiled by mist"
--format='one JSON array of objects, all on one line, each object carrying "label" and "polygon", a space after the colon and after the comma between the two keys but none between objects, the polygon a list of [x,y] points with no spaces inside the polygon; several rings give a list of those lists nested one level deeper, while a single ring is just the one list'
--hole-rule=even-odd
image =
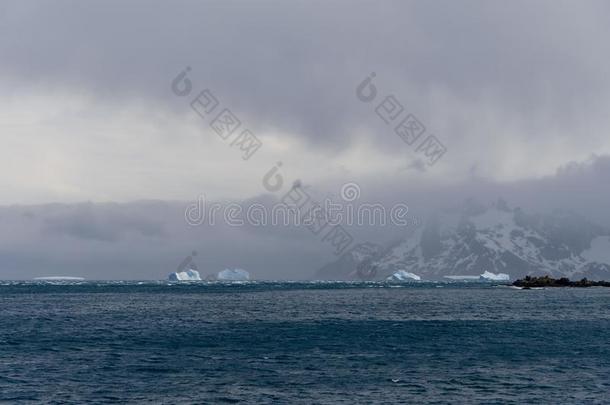
[{"label": "rugged dark mountain with snow patches, partly veiled by mist", "polygon": [[468,201],[439,212],[411,237],[384,248],[356,246],[320,269],[318,278],[385,279],[404,270],[422,279],[484,271],[610,279],[610,231],[573,213],[527,214],[499,200]]}]

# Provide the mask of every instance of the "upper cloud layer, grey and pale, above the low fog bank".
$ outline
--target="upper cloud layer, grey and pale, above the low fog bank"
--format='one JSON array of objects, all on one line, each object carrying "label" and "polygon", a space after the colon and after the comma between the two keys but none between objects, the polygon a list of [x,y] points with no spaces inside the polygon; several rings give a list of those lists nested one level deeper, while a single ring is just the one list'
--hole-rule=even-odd
[{"label": "upper cloud layer, grey and pale, above the low fog bank", "polygon": [[[379,100],[394,95],[448,148],[428,170],[435,181],[535,178],[610,153],[601,1],[9,1],[1,11],[6,203],[188,199],[194,187],[246,198],[278,159],[311,182],[408,182],[421,171],[400,169],[419,156],[355,97],[373,71]],[[247,166],[171,93],[187,65],[196,89],[264,141]]]}]

